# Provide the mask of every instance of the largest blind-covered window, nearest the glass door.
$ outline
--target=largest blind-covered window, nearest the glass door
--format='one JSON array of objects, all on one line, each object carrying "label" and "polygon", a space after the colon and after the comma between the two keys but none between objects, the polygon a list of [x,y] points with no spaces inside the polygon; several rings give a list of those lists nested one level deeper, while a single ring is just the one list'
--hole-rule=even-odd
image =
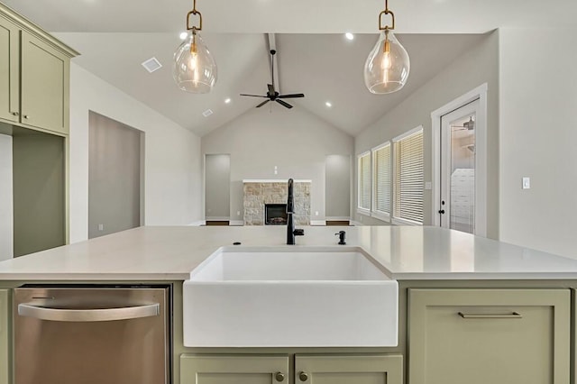
[{"label": "largest blind-covered window, nearest the glass door", "polygon": [[393,140],[393,223],[423,224],[423,127]]}]

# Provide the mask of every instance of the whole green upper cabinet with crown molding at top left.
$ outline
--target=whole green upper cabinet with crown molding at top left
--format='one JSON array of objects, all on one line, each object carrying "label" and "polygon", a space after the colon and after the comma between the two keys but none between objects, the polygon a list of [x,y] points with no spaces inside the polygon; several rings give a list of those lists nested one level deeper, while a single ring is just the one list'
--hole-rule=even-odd
[{"label": "whole green upper cabinet with crown molding at top left", "polygon": [[70,58],[77,54],[0,4],[0,121],[68,134]]}]

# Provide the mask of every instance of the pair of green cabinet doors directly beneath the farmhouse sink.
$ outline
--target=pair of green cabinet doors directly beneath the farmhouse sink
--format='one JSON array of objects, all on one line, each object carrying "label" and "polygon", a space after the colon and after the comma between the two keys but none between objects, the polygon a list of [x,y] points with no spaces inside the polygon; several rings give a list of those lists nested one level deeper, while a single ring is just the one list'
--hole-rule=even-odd
[{"label": "pair of green cabinet doors directly beneath the farmhouse sink", "polygon": [[180,356],[180,384],[402,384],[400,355]]}]

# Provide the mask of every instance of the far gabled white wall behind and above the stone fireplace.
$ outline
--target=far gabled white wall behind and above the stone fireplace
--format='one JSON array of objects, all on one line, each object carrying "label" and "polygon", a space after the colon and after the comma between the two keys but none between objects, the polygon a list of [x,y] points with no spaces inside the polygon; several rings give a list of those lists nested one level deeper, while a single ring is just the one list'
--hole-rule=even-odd
[{"label": "far gabled white wall behind and above the stone fireplace", "polygon": [[315,221],[325,220],[325,157],[351,155],[353,137],[298,106],[267,105],[203,136],[202,151],[231,155],[231,220],[243,220],[243,179],[298,178],[312,180]]}]

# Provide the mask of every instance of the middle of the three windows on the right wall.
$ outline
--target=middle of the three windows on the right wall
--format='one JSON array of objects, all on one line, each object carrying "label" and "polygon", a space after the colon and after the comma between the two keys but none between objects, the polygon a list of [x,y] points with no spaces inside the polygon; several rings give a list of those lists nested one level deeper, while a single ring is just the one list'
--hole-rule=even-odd
[{"label": "middle of the three windows on the right wall", "polygon": [[372,213],[377,218],[390,217],[390,142],[372,150]]}]

